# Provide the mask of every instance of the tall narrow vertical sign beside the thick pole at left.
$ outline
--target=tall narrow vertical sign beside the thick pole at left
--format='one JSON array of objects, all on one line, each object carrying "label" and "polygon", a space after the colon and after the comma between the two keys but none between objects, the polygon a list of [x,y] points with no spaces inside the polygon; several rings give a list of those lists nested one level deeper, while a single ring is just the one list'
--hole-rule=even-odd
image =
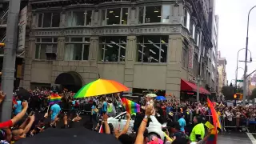
[{"label": "tall narrow vertical sign beside the thick pole at left", "polygon": [[25,38],[26,38],[26,15],[27,6],[25,6],[19,18],[19,27],[18,27],[18,50],[25,50]]}]

